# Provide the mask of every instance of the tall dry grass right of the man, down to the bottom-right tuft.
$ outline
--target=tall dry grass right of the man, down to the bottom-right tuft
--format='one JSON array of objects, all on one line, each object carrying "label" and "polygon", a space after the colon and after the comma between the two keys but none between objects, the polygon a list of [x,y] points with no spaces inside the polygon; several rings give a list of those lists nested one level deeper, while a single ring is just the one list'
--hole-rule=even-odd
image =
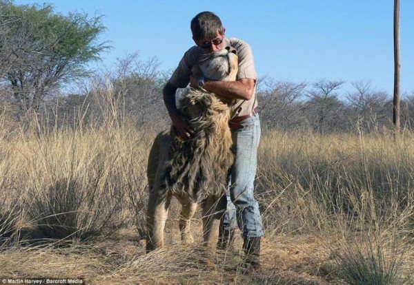
[{"label": "tall dry grass right of the man, down to the bottom-right tuft", "polygon": [[379,133],[265,136],[257,189],[268,232],[316,232],[332,274],[350,284],[409,284],[413,142],[408,133],[398,143]]}]

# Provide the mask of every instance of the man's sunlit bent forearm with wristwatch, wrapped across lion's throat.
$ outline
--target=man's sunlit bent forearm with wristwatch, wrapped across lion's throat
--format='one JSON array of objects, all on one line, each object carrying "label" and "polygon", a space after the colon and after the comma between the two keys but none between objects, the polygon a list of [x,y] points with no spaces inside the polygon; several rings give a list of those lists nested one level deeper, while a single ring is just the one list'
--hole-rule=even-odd
[{"label": "man's sunlit bent forearm with wristwatch, wrapped across lion's throat", "polygon": [[[255,84],[253,78],[241,78],[238,81],[212,81],[205,78],[203,88],[226,98],[250,100],[255,92]],[[198,88],[198,78],[191,78],[190,86]]]}]

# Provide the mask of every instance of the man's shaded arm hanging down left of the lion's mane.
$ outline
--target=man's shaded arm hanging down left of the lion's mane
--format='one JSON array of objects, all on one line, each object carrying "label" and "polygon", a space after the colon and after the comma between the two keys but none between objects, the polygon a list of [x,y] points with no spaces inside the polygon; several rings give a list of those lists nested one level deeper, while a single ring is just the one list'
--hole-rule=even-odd
[{"label": "man's shaded arm hanging down left of the lion's mane", "polygon": [[177,92],[177,87],[168,82],[162,91],[164,104],[177,133],[181,138],[188,139],[195,135],[195,131],[188,124],[188,118],[178,112],[177,105],[175,105],[175,92]]}]

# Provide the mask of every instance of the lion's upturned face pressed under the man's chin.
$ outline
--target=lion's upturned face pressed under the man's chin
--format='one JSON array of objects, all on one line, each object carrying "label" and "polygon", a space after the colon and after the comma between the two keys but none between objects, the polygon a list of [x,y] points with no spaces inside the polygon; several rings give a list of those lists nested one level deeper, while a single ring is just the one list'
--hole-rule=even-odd
[{"label": "lion's upturned face pressed under the man's chin", "polygon": [[199,61],[201,72],[213,80],[235,81],[237,67],[237,54],[227,49],[205,54]]}]

